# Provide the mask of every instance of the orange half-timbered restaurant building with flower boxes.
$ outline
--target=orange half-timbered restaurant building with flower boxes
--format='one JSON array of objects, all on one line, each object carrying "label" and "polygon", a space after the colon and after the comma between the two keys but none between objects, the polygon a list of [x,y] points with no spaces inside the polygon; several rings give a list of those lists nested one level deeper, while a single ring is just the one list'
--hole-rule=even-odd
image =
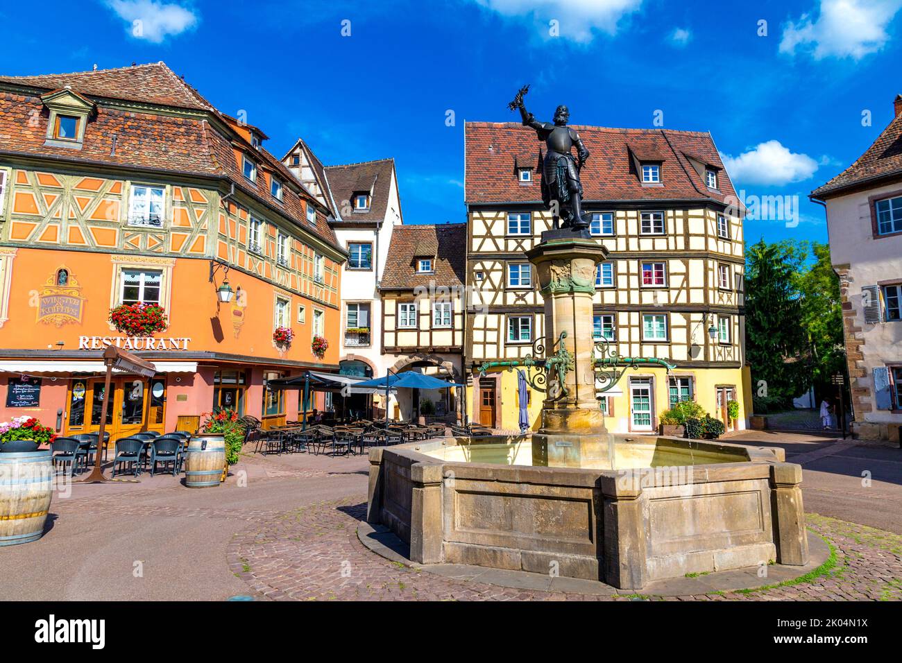
[{"label": "orange half-timbered restaurant building with flower boxes", "polygon": [[[0,419],[96,430],[107,344],[159,371],[115,375],[113,439],[216,407],[298,418],[298,392],[266,384],[337,370],[346,254],[265,139],[162,62],[0,77]],[[235,294],[218,303],[226,279]],[[116,331],[111,308],[136,301],[169,327]]]}]

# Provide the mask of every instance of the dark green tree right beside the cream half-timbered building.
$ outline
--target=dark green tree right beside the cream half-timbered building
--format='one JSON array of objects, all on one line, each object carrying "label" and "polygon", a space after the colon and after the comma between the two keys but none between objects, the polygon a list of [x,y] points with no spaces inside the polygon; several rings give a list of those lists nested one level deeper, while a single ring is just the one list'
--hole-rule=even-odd
[{"label": "dark green tree right beside the cream half-timbered building", "polygon": [[808,336],[800,322],[799,275],[804,271],[805,243],[763,239],[746,250],[746,357],[752,389],[767,383],[767,395],[785,401],[811,384]]}]

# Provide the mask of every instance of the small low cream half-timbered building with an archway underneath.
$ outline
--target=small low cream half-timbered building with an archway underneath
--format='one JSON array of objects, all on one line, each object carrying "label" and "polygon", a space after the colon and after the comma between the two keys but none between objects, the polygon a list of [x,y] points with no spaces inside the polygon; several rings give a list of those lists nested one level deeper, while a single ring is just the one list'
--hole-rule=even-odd
[{"label": "small low cream half-timbered building with an archway underneath", "polygon": [[[462,382],[465,244],[465,224],[395,226],[380,286],[382,353],[393,360],[394,373],[413,370]],[[456,388],[399,390],[396,414],[456,423],[461,396]]]}]

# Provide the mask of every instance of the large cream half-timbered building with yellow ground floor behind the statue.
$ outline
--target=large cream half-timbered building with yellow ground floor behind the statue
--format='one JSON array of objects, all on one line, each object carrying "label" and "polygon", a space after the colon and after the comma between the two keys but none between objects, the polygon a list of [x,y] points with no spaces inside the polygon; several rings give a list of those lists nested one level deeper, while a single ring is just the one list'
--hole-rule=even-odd
[{"label": "large cream half-timbered building with yellow ground floor behind the statue", "polygon": [[[591,235],[610,252],[595,274],[593,329],[641,368],[599,392],[612,431],[651,432],[677,400],[699,402],[728,429],[744,428],[750,401],[743,355],[742,225],[732,184],[708,134],[579,127],[593,156],[582,172]],[[540,143],[519,124],[466,127],[466,370],[470,417],[517,428],[517,374],[480,373],[522,359],[545,341],[542,297],[525,252],[552,226],[541,203]],[[601,163],[604,163],[604,167]],[[609,172],[608,163],[612,164]],[[643,166],[657,181],[643,182]],[[502,177],[491,177],[492,170]],[[713,186],[708,186],[709,184]],[[544,394],[529,393],[538,425]],[[737,419],[728,414],[737,401]]]}]

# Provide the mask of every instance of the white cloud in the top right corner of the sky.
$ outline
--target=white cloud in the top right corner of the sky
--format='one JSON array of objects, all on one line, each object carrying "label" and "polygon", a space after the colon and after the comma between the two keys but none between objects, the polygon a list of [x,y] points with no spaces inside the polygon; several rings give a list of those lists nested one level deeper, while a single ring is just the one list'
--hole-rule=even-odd
[{"label": "white cloud in the top right corner of the sky", "polygon": [[887,26],[900,8],[902,0],[821,0],[816,19],[803,14],[783,27],[780,52],[861,60],[883,48]]}]

